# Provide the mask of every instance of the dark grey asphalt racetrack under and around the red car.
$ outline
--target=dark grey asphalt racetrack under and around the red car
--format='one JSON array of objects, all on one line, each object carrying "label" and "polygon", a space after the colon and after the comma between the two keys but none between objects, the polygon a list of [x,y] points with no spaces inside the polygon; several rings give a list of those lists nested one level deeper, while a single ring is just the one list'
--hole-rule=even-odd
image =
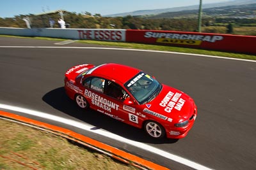
[{"label": "dark grey asphalt racetrack under and around the red car", "polygon": [[[177,53],[60,48],[106,46],[54,43],[60,41],[0,37],[0,104],[83,122],[95,129],[154,146],[210,169],[255,169],[256,62]],[[188,136],[179,140],[156,141],[140,129],[97,111],[83,111],[68,99],[63,89],[64,74],[68,68],[77,64],[106,62],[138,67],[161,83],[193,97],[198,106],[198,117]],[[16,113],[28,117],[24,113]],[[29,118],[79,132],[172,170],[192,169],[122,141],[43,118]]]}]

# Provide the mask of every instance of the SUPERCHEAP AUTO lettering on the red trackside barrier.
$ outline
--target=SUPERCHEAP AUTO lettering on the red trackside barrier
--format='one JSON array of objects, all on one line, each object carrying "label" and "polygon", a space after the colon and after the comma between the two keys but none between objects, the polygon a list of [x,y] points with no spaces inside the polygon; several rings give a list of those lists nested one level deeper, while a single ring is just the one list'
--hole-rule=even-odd
[{"label": "SUPERCHEAP AUTO lettering on the red trackside barrier", "polygon": [[196,34],[172,34],[164,32],[145,32],[145,38],[157,38],[157,43],[171,43],[180,45],[201,45],[203,41],[215,43],[223,40],[223,36],[205,36]]}]

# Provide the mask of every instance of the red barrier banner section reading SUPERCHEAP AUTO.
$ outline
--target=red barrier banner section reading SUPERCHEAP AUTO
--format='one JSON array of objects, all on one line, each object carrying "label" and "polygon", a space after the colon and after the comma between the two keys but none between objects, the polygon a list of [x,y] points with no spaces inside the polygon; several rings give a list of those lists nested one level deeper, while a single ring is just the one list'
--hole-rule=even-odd
[{"label": "red barrier banner section reading SUPERCHEAP AUTO", "polygon": [[127,29],[126,41],[225,52],[256,53],[256,36]]}]

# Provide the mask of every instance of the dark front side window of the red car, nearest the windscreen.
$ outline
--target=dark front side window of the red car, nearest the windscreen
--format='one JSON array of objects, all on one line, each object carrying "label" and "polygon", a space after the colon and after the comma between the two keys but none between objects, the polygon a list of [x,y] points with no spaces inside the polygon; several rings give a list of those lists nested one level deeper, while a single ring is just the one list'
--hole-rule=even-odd
[{"label": "dark front side window of the red car, nearest the windscreen", "polygon": [[125,92],[120,85],[114,83],[113,81],[108,81],[108,86],[105,91],[106,95],[114,97],[115,99],[119,99],[124,101],[129,95]]}]

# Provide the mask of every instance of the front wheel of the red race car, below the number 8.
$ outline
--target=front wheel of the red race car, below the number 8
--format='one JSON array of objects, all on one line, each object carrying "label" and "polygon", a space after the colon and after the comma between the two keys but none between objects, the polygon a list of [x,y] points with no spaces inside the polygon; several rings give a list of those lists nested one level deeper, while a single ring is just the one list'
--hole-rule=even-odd
[{"label": "front wheel of the red race car, below the number 8", "polygon": [[147,132],[147,134],[152,138],[161,139],[165,136],[165,130],[163,126],[153,120],[148,120],[145,122],[144,129],[145,132]]}]

